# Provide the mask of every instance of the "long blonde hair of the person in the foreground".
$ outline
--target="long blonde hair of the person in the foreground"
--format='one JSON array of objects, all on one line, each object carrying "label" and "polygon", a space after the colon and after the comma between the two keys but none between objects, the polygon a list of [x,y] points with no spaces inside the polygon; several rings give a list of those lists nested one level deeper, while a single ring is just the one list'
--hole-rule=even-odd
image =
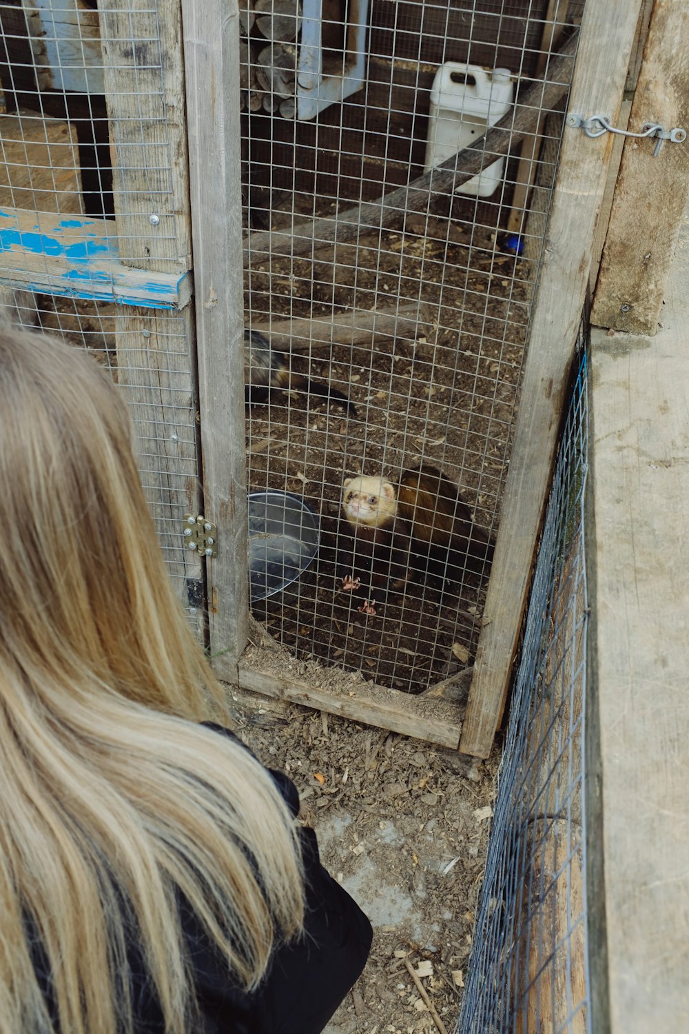
[{"label": "long blonde hair of the person in the foreground", "polygon": [[123,400],[0,327],[0,1030],[132,1027],[131,931],[170,1034],[195,1021],[180,892],[253,989],[302,929],[294,820],[234,740],[171,589]]}]

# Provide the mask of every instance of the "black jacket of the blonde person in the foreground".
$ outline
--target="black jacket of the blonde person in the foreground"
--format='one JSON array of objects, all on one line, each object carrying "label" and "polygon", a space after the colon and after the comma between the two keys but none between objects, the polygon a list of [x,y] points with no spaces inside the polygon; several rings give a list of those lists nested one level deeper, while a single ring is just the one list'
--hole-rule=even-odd
[{"label": "black jacket of the blonde person in the foreground", "polygon": [[[233,736],[221,726],[207,724]],[[296,787],[283,772],[269,770],[296,817]],[[231,982],[225,963],[209,943],[192,909],[182,902],[182,927],[202,1015],[201,1029],[193,1034],[320,1034],[364,969],[371,947],[371,923],[320,864],[313,829],[303,828],[301,838],[306,872],[304,934],[276,948],[267,975],[252,994]],[[36,972],[57,1031],[48,961],[39,944],[34,942],[33,949]],[[136,1034],[164,1034],[160,1006],[133,937],[129,970]]]}]

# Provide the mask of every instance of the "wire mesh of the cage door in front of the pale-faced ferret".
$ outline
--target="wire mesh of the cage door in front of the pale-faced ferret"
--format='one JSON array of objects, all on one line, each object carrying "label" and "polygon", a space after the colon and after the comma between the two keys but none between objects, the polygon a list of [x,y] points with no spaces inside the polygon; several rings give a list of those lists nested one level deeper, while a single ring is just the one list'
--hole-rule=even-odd
[{"label": "wire mesh of the cage door in front of the pale-faced ferret", "polygon": [[[293,117],[312,82],[299,48],[308,4],[244,7],[247,324],[292,369],[356,407],[347,415],[304,392],[274,392],[248,412],[250,487],[297,492],[320,519],[317,561],[253,607],[299,656],[414,693],[470,661],[488,565],[452,579],[412,579],[375,617],[362,615],[371,564],[355,558],[358,595],[339,589],[352,570],[343,480],[363,470],[397,485],[402,470],[430,464],[475,525],[495,533],[544,234],[527,222],[527,188],[549,134],[554,153],[543,160],[557,161],[561,122],[544,118],[566,83],[558,79],[562,89],[547,102],[529,88],[547,82],[544,68],[574,33],[582,6],[371,0],[364,16],[361,4],[323,4],[325,85],[346,80],[357,57],[365,70],[361,89],[313,118]],[[288,12],[286,29],[278,9]],[[364,37],[355,31],[363,19]],[[506,116],[507,157],[489,196],[453,190],[461,162],[449,182],[434,173],[429,189],[424,179],[432,84],[448,61],[508,68],[534,116],[522,165],[516,110]],[[516,250],[534,237],[521,255],[506,241],[510,229],[521,237]]]}]

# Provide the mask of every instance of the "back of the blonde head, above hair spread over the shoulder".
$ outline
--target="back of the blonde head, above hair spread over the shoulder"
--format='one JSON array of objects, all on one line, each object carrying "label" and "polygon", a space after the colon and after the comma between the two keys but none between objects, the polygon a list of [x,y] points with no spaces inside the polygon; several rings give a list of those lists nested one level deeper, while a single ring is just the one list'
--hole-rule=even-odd
[{"label": "back of the blonde head, above hair spread over the shoulder", "polygon": [[89,356],[0,329],[0,659],[31,681],[88,678],[199,717],[208,676],[131,437],[124,400]]}]

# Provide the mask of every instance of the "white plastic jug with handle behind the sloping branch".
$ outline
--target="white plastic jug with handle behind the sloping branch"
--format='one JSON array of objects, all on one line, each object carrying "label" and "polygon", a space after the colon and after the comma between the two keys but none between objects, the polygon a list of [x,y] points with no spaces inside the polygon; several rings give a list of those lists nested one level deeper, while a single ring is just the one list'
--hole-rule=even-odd
[{"label": "white plastic jug with handle behind the sloping branch", "polygon": [[[446,61],[438,68],[431,87],[426,165],[434,165],[468,147],[506,115],[513,87],[508,68],[487,72],[479,65]],[[478,176],[458,187],[458,193],[488,197],[502,180],[504,158],[498,158]]]}]

